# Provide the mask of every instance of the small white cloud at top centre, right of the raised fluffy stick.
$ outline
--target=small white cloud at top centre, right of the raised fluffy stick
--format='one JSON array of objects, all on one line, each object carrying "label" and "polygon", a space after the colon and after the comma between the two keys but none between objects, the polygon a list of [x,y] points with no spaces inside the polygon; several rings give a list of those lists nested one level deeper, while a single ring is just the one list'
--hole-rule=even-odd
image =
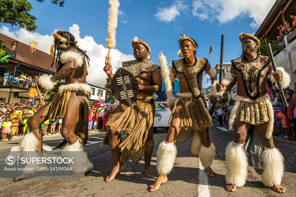
[{"label": "small white cloud at top centre, right of the raised fluffy stick", "polygon": [[170,7],[159,7],[158,12],[154,14],[159,21],[162,22],[171,22],[180,15],[180,11],[186,11],[189,6],[185,3],[184,0],[176,0]]}]

